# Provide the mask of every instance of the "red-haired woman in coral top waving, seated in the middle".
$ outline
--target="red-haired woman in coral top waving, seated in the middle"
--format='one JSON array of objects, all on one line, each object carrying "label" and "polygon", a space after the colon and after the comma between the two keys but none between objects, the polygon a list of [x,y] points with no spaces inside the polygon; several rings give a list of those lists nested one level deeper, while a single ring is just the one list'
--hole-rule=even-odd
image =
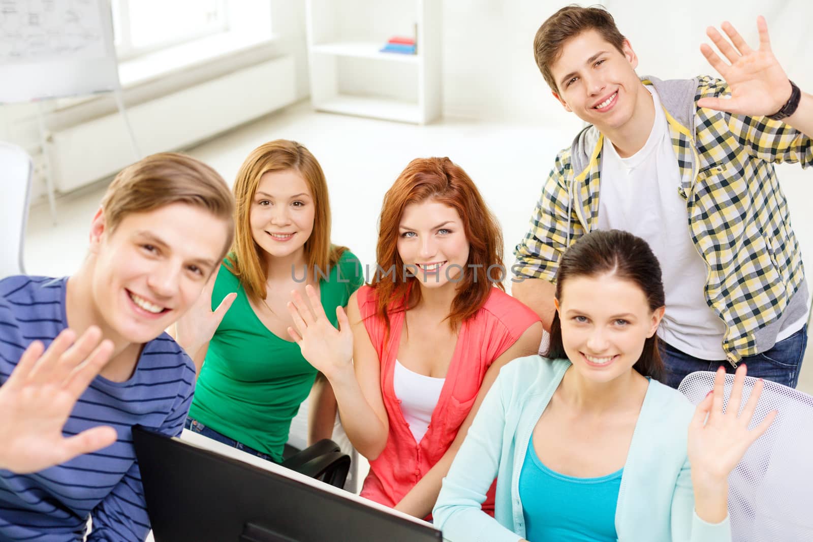
[{"label": "red-haired woman in coral top waving, seated in the middle", "polygon": [[542,326],[505,293],[498,222],[449,158],[416,158],[398,176],[376,252],[371,284],[348,314],[337,308],[340,330],[307,288],[310,303],[293,293],[289,333],[370,460],[361,495],[424,518],[500,367],[536,353]]}]

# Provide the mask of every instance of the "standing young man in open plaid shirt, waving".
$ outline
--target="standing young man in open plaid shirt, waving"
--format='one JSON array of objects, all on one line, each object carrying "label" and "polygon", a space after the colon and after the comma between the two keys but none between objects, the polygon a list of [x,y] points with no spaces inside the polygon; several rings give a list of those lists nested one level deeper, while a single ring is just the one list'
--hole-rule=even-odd
[{"label": "standing young man in open plaid shirt, waving", "polygon": [[[628,230],[658,256],[667,288],[659,327],[667,384],[733,371],[795,387],[807,341],[808,286],[773,163],[813,163],[813,98],[728,23],[702,53],[724,80],[639,79],[637,56],[600,8],[565,7],[534,53],[554,98],[589,124],[556,157],[524,240],[513,294],[550,328],[567,246],[594,229]],[[603,181],[603,182],[602,182]],[[586,323],[589,325],[589,323]],[[615,320],[623,327],[625,320]],[[588,355],[611,357],[613,332]]]}]

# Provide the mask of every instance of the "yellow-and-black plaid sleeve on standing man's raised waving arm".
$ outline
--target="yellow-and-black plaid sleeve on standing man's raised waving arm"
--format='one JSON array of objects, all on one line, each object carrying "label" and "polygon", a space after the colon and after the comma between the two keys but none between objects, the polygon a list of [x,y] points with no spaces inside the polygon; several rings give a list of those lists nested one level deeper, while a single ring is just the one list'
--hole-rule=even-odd
[{"label": "yellow-and-black plaid sleeve on standing man's raised waving arm", "polygon": [[[702,97],[720,98],[730,94],[724,80],[705,77],[701,85]],[[733,115],[725,113],[728,130],[737,138],[748,154],[771,163],[813,164],[813,140],[780,120],[763,116]]]}]

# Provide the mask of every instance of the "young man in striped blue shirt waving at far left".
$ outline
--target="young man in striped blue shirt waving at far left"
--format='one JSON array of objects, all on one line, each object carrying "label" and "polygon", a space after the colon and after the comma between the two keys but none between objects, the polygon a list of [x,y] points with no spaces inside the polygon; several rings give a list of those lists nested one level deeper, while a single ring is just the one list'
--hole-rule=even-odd
[{"label": "young man in striped blue shirt waving at far left", "polygon": [[[62,430],[75,436],[96,427],[90,435],[99,440],[85,449],[110,443],[109,427],[116,434],[106,448],[45,470],[20,474],[60,458],[38,457],[30,465],[16,463],[17,472],[0,470],[0,540],[82,540],[89,517],[93,527],[87,540],[146,538],[150,522],[132,427],[170,436],[183,429],[195,366],[163,330],[198,297],[206,297],[201,293],[232,241],[232,215],[232,195],[211,167],[182,154],[154,154],[113,180],[93,217],[89,251],[76,274],[0,280],[0,384],[9,379],[13,395],[21,380],[36,384],[40,366],[46,378],[46,370],[59,364],[48,356],[64,358],[57,354],[74,337],[80,339],[64,354],[73,352],[75,358],[86,356],[103,337],[89,364],[110,360],[61,420]],[[211,323],[203,325],[216,326],[226,308],[211,313]],[[33,358],[48,346],[40,366],[32,369]],[[20,371],[12,375],[15,367]],[[70,380],[71,371],[65,371]],[[74,395],[89,377],[78,380],[68,383]],[[59,397],[72,401],[70,393]],[[53,436],[53,419],[50,425],[45,419],[42,431],[50,431],[56,445],[65,444]],[[16,455],[19,459],[19,451]]]}]

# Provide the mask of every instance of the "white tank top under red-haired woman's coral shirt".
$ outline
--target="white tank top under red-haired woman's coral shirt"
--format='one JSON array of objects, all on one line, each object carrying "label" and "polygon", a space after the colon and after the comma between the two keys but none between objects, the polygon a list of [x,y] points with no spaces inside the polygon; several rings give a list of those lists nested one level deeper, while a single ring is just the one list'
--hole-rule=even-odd
[{"label": "white tank top under red-haired woman's coral shirt", "polygon": [[436,379],[432,376],[420,375],[410,371],[395,360],[395,374],[393,375],[393,388],[395,397],[401,402],[401,413],[409,430],[420,442],[429,428],[429,420],[441,398],[441,388],[446,379]]}]

